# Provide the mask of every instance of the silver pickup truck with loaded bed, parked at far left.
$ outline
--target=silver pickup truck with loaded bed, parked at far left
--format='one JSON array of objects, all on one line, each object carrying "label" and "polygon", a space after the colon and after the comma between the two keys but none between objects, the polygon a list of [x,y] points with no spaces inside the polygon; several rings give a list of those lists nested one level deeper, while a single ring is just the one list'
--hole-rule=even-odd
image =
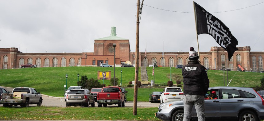
[{"label": "silver pickup truck with loaded bed, parked at far left", "polygon": [[34,88],[14,88],[12,93],[1,94],[0,102],[4,107],[12,107],[20,105],[21,107],[28,107],[29,104],[37,104],[41,106],[42,96]]}]

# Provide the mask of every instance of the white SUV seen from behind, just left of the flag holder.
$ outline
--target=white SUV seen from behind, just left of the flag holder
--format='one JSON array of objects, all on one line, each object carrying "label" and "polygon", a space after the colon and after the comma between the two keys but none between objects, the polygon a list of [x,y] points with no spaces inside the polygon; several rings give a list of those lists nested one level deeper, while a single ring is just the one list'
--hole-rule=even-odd
[{"label": "white SUV seen from behind, just left of the flag holder", "polygon": [[163,89],[161,94],[161,102],[160,103],[167,103],[177,100],[183,100],[183,92],[179,87],[166,87]]}]

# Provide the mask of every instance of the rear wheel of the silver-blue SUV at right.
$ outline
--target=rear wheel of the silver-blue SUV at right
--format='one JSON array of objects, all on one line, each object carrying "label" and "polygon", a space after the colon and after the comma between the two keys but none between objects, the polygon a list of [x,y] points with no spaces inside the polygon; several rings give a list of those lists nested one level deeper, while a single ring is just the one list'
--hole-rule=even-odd
[{"label": "rear wheel of the silver-blue SUV at right", "polygon": [[243,111],[239,115],[239,121],[257,121],[257,115],[252,111]]}]

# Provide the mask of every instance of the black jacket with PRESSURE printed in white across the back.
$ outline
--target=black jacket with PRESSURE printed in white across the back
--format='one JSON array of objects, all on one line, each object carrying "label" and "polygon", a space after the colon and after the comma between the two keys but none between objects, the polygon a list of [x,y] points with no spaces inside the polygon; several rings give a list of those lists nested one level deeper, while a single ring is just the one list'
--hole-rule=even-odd
[{"label": "black jacket with PRESSURE printed in white across the back", "polygon": [[206,68],[196,60],[182,67],[184,94],[204,96],[209,88]]}]

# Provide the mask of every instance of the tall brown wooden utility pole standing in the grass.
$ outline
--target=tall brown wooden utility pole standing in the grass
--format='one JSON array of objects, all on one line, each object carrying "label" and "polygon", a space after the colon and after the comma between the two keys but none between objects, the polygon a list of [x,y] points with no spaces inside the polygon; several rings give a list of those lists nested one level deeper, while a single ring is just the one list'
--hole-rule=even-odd
[{"label": "tall brown wooden utility pole standing in the grass", "polygon": [[[143,0],[144,1],[144,0]],[[134,82],[134,106],[133,106],[133,115],[137,115],[137,107],[138,107],[138,50],[139,50],[139,21],[140,14],[143,6],[143,1],[140,9],[140,0],[138,0],[137,4],[137,29],[136,29],[136,65],[135,65],[135,82]]]}]

